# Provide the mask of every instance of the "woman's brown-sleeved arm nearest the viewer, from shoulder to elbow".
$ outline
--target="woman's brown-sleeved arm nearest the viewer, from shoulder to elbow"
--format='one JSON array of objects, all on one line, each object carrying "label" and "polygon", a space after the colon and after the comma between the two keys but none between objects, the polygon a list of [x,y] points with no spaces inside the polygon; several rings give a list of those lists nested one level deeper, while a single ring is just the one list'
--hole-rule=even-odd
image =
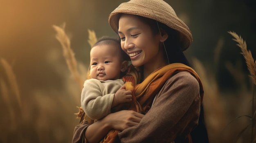
[{"label": "woman's brown-sleeved arm nearest the viewer, from shoulder to elbow", "polygon": [[122,143],[167,143],[186,136],[200,113],[198,81],[187,72],[168,79],[141,122],[119,133]]}]

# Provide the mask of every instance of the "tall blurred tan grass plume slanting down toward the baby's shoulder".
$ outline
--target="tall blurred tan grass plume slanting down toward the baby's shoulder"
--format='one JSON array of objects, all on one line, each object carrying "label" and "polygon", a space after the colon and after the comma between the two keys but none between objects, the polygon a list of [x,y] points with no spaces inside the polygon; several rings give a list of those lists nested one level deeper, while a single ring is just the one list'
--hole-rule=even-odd
[{"label": "tall blurred tan grass plume slanting down toward the baby's shoulder", "polygon": [[80,90],[82,90],[83,80],[81,79],[81,76],[78,73],[76,58],[74,57],[74,52],[70,48],[70,39],[67,37],[64,31],[64,27],[65,24],[63,24],[63,27],[53,25],[53,28],[57,32],[56,39],[61,43],[61,46],[63,48],[63,55],[66,59],[67,66],[72,76],[76,80],[77,84],[79,85]]}]

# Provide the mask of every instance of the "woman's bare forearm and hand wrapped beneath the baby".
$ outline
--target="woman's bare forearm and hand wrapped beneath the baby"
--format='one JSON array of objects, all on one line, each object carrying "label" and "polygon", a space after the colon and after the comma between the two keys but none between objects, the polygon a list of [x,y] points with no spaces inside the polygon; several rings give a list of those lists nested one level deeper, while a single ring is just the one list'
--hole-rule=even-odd
[{"label": "woman's bare forearm and hand wrapped beneath the baby", "polygon": [[89,143],[98,143],[106,134],[112,130],[125,130],[138,125],[144,114],[132,110],[121,110],[108,114],[106,117],[89,125],[85,131],[85,137]]}]

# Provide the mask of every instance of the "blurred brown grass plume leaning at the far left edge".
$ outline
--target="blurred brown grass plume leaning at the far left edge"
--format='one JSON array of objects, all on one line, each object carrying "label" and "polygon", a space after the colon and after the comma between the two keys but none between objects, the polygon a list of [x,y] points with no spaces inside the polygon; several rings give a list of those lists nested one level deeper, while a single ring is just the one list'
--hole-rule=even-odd
[{"label": "blurred brown grass plume leaning at the far left edge", "polygon": [[7,79],[9,81],[10,87],[12,88],[11,91],[13,91],[17,101],[18,101],[18,106],[21,107],[21,98],[20,98],[20,91],[18,88],[17,80],[15,77],[15,74],[13,73],[13,70],[11,66],[7,63],[5,59],[1,59],[2,65],[4,67],[4,70],[7,75]]}]

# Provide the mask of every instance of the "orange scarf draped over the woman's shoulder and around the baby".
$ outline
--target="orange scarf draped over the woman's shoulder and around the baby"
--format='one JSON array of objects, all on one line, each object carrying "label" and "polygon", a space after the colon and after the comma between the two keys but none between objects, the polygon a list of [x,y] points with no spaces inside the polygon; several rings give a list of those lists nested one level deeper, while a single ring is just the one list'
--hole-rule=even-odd
[{"label": "orange scarf draped over the woman's shoulder and around the baby", "polygon": [[[198,80],[198,83],[200,85],[200,96],[201,96],[201,103],[203,100],[203,94],[204,90],[202,87],[202,82],[198,76],[198,74],[193,70],[191,67],[186,66],[181,63],[173,63],[173,64],[168,64],[167,66],[164,66],[162,68],[159,68],[155,70],[153,73],[151,73],[146,79],[141,82],[140,84],[136,84],[137,81],[140,79],[140,75],[137,73],[135,68],[133,66],[130,66],[130,69],[128,71],[128,75],[125,76],[123,79],[125,82],[130,81],[134,84],[134,91],[133,91],[133,105],[142,107],[144,110],[142,112],[146,112],[145,110],[146,107],[150,106],[152,103],[153,99],[157,95],[157,93],[161,90],[162,86],[166,83],[166,81],[175,75],[178,72],[181,71],[187,71],[191,73],[195,77],[195,79]],[[136,101],[135,101],[136,100]],[[129,108],[131,109],[131,108]],[[133,108],[134,109],[134,108]],[[138,111],[137,112],[141,112]],[[118,139],[118,133],[119,131],[117,130],[111,130],[101,141],[101,143],[117,143],[120,142]],[[190,134],[187,136],[187,140],[189,143],[192,143],[191,136]]]}]

